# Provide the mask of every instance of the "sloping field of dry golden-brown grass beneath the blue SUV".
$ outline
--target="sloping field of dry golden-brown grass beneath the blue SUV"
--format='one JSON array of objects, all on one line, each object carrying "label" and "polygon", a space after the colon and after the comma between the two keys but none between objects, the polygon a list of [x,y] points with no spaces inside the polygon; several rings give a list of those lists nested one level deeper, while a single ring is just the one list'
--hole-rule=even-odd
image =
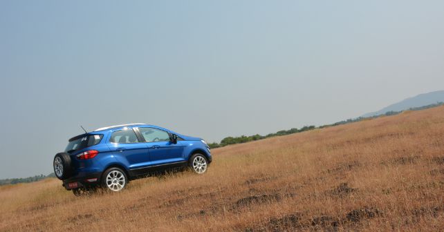
[{"label": "sloping field of dry golden-brown grass beneath the blue SUV", "polygon": [[[0,187],[0,231],[443,231],[444,107],[214,149],[205,175]],[[50,160],[48,160],[50,162]]]}]

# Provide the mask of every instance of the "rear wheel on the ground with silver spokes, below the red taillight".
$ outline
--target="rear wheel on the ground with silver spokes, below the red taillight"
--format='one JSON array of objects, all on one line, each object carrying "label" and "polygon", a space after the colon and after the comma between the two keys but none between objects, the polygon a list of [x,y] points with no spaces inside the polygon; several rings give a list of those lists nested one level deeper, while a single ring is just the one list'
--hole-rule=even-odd
[{"label": "rear wheel on the ground with silver spokes, below the red taillight", "polygon": [[127,184],[127,173],[120,168],[108,168],[102,175],[102,187],[109,191],[120,192]]}]

